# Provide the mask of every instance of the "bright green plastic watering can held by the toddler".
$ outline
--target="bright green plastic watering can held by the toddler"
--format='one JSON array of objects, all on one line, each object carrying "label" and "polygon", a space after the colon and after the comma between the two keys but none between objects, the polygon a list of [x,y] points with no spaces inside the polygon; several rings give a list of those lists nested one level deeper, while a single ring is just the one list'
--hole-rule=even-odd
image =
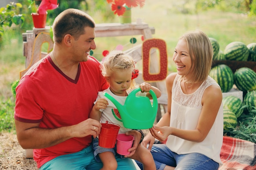
[{"label": "bright green plastic watering can held by the toddler", "polygon": [[124,105],[121,105],[115,98],[110,96],[110,94],[106,92],[103,93],[103,95],[117,107],[125,128],[149,129],[153,127],[155,122],[158,107],[157,96],[155,92],[150,89],[149,92],[153,97],[153,104],[151,104],[148,97],[135,95],[140,90],[139,87],[132,90],[127,96]]}]

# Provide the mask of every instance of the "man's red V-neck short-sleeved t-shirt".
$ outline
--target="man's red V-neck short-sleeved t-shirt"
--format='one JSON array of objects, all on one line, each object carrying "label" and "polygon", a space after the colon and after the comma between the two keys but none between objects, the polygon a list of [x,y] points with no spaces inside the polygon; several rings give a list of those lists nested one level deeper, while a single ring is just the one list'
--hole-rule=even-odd
[{"label": "man's red V-neck short-sleeved t-shirt", "polygon": [[[101,75],[100,63],[88,56],[79,64],[76,79],[61,72],[48,56],[21,78],[16,88],[14,118],[25,123],[40,123],[40,128],[54,129],[75,125],[89,118],[99,91],[108,88]],[[49,148],[34,149],[38,168],[63,154],[83,150],[92,136],[72,138]]]}]

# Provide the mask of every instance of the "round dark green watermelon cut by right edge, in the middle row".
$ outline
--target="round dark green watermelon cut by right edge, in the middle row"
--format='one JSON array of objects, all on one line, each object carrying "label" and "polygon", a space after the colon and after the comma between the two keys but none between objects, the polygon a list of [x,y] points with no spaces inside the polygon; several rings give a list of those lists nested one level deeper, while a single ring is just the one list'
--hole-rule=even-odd
[{"label": "round dark green watermelon cut by right edge, in the middle row", "polygon": [[241,67],[234,73],[235,85],[243,92],[256,90],[256,72],[248,67]]}]

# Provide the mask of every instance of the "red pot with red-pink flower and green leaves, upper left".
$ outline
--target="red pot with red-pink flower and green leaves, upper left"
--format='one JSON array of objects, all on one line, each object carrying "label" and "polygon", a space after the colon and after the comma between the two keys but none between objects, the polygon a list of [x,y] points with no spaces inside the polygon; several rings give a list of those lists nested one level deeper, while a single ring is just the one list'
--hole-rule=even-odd
[{"label": "red pot with red-pink flower and green leaves, upper left", "polygon": [[36,7],[35,0],[31,0],[29,6],[34,12],[31,13],[35,28],[44,28],[46,25],[47,10],[58,7],[57,0],[41,0],[39,7]]}]

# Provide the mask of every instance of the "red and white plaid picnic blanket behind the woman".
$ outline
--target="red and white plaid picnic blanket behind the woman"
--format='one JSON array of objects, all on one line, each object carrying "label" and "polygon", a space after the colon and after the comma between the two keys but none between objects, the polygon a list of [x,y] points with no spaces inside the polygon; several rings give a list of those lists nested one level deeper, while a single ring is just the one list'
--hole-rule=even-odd
[{"label": "red and white plaid picnic blanket behind the woman", "polygon": [[256,170],[256,144],[223,136],[220,159],[223,165],[219,170],[227,170],[227,168]]}]

